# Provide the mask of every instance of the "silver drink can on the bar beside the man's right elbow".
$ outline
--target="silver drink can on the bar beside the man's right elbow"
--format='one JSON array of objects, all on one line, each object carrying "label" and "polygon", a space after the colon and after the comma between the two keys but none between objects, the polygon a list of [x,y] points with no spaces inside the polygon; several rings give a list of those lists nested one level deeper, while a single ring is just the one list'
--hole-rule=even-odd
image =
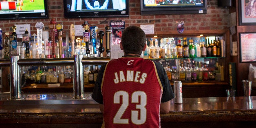
[{"label": "silver drink can on the bar beside the man's right elbow", "polygon": [[182,104],[182,83],[181,81],[174,81],[174,104]]}]

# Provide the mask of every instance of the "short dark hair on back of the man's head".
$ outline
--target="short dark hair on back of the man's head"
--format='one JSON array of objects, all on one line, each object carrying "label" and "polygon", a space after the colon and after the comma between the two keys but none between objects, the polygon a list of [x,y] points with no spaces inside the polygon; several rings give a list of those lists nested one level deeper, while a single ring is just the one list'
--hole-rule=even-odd
[{"label": "short dark hair on back of the man's head", "polygon": [[124,53],[141,55],[146,43],[146,35],[141,28],[128,26],[122,33],[121,43],[124,48]]}]

